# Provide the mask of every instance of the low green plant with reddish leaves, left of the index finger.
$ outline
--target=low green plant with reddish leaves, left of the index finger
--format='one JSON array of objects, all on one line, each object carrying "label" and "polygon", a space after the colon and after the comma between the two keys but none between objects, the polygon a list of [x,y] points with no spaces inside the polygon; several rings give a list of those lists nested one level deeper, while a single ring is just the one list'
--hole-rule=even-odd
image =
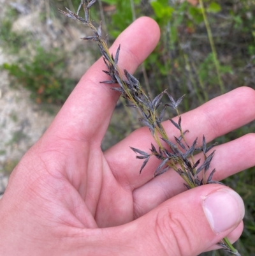
[{"label": "low green plant with reddish leaves, left of the index finger", "polygon": [[13,78],[13,84],[21,84],[31,91],[37,103],[64,103],[75,86],[73,79],[64,77],[66,57],[59,49],[46,52],[38,47],[31,59],[20,59],[17,63],[3,64]]}]

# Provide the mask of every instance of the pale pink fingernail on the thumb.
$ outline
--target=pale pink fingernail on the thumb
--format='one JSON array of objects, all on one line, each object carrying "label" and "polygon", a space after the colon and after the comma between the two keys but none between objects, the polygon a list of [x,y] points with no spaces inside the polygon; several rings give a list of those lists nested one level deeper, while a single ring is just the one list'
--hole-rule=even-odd
[{"label": "pale pink fingernail on the thumb", "polygon": [[244,218],[242,198],[228,188],[207,195],[203,200],[203,209],[215,234],[230,229]]}]

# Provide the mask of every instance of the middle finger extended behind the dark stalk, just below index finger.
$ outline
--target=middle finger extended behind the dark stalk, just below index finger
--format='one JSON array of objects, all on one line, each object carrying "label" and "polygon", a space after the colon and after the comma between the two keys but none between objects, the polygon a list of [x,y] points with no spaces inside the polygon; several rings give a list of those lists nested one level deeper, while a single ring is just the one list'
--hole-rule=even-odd
[{"label": "middle finger extended behind the dark stalk, just below index finger", "polygon": [[[182,128],[190,131],[186,134],[189,144],[198,137],[198,146],[201,146],[203,135],[210,142],[254,119],[255,91],[249,87],[239,87],[182,114]],[[170,121],[165,121],[163,126],[170,139],[173,139],[173,135],[179,137],[179,131]],[[147,127],[143,127],[105,152],[108,165],[120,184],[134,190],[152,179],[159,160],[151,157],[139,175],[143,161],[136,159],[135,153],[130,149],[135,147],[150,153],[151,143],[155,144],[152,135]]]}]

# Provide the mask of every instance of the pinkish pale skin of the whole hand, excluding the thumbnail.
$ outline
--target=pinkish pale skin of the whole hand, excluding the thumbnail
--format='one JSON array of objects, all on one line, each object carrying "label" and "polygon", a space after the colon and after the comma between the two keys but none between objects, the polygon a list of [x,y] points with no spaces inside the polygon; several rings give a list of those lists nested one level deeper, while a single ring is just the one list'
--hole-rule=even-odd
[{"label": "pinkish pale skin of the whole hand, excluding the thumbnail", "polygon": [[[135,72],[159,40],[153,20],[136,20],[115,41],[119,66]],[[185,191],[170,170],[153,179],[158,164],[141,160],[129,146],[149,152],[147,128],[101,151],[119,94],[109,86],[99,59],[80,80],[54,122],[25,154],[0,200],[0,255],[198,255],[228,236],[242,233],[242,218],[215,233],[201,200],[221,190],[210,184]],[[170,92],[169,92],[170,93]],[[186,139],[201,145],[255,119],[255,91],[240,87],[182,114]],[[169,137],[178,135],[164,123]],[[255,165],[255,135],[215,147],[214,179],[221,180]],[[227,188],[226,188],[227,189]],[[240,209],[240,212],[242,209]],[[238,211],[237,211],[238,212]],[[242,215],[240,213],[240,215]]]}]

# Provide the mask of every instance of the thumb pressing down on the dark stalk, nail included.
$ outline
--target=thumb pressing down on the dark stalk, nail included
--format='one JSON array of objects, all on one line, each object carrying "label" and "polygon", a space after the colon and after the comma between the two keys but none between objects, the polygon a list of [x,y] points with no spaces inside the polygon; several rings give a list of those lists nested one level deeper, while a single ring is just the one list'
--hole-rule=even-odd
[{"label": "thumb pressing down on the dark stalk, nail included", "polygon": [[135,250],[127,255],[198,255],[235,230],[243,217],[244,203],[230,188],[193,188],[126,225],[130,234],[124,234],[124,244]]}]

